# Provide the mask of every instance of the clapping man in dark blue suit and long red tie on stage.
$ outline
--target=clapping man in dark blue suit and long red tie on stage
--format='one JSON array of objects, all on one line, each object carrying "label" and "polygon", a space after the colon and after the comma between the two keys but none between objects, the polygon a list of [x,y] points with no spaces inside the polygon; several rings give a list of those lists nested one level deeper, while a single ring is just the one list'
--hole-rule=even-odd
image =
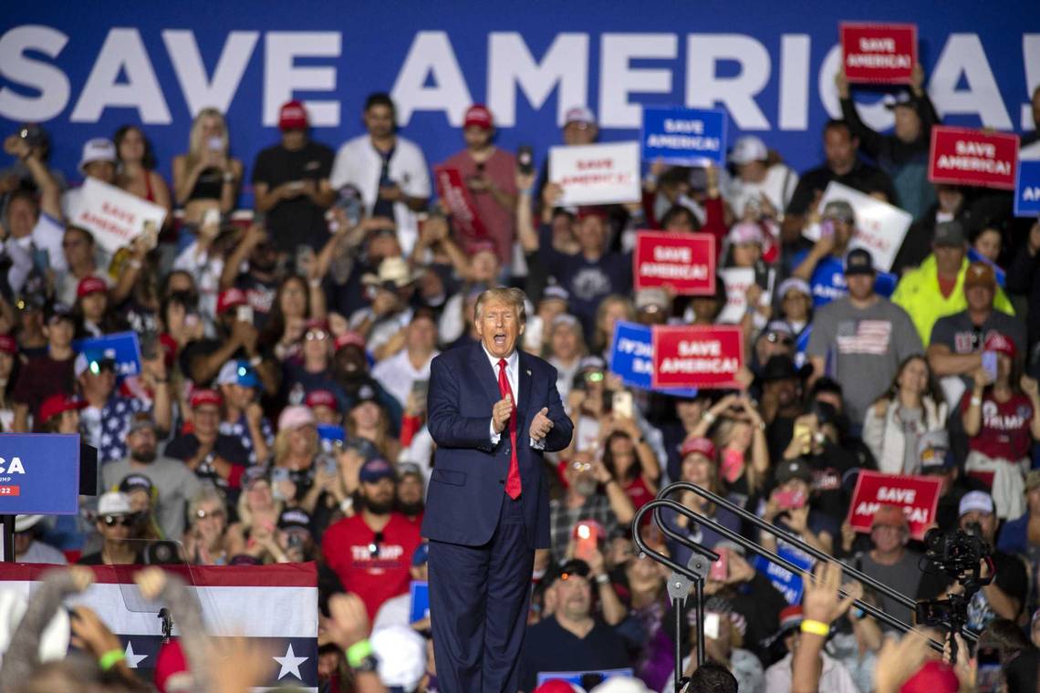
[{"label": "clapping man in dark blue suit and long red tie on stage", "polygon": [[430,620],[439,688],[515,693],[535,550],[549,547],[543,454],[573,426],[556,371],[519,351],[524,294],[489,289],[476,301],[480,343],[430,368],[437,443],[422,535],[430,538]]}]

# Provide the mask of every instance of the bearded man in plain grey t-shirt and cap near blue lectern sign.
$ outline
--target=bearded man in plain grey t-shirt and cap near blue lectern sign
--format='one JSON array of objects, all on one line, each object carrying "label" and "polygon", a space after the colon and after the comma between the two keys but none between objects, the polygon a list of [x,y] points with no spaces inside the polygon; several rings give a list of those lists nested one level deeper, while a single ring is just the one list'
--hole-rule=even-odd
[{"label": "bearded man in plain grey t-shirt and cap near blue lectern sign", "polygon": [[167,539],[184,533],[184,508],[199,491],[199,479],[179,459],[160,457],[155,422],[148,414],[137,414],[126,435],[128,456],[101,468],[102,487],[111,488],[129,474],[141,474],[159,489],[156,517]]}]

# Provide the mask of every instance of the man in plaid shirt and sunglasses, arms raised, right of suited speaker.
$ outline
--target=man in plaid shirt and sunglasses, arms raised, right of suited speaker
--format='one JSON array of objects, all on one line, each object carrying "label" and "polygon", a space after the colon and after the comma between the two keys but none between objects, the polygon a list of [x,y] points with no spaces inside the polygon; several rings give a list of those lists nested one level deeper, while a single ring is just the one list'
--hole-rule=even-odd
[{"label": "man in plaid shirt and sunglasses, arms raised, right of suited speaker", "polygon": [[[635,512],[625,489],[592,451],[575,453],[564,470],[564,479],[567,481],[567,495],[558,501],[549,501],[552,556],[557,561],[566,556],[578,523],[594,519],[603,527],[605,536],[612,536],[619,519],[627,524]],[[603,484],[605,494],[599,492],[600,484]]]}]

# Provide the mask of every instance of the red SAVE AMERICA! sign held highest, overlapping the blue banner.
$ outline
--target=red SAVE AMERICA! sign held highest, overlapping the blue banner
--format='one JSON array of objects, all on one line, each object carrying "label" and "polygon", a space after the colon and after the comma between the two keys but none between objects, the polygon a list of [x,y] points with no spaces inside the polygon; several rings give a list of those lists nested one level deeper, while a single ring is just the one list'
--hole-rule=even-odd
[{"label": "red SAVE AMERICA! sign held highest, overlapping the blue banner", "polygon": [[842,22],[841,64],[850,82],[906,84],[917,64],[916,24]]}]

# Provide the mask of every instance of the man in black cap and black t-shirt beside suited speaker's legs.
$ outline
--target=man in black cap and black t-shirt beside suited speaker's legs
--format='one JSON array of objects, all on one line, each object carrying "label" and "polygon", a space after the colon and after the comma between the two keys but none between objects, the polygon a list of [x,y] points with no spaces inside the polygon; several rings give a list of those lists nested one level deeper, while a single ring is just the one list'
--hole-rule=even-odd
[{"label": "man in black cap and black t-shirt beside suited speaker's legs", "polygon": [[621,637],[592,615],[590,572],[584,561],[570,560],[547,588],[555,612],[527,632],[520,658],[521,691],[535,690],[540,671],[602,671],[628,666]]}]

